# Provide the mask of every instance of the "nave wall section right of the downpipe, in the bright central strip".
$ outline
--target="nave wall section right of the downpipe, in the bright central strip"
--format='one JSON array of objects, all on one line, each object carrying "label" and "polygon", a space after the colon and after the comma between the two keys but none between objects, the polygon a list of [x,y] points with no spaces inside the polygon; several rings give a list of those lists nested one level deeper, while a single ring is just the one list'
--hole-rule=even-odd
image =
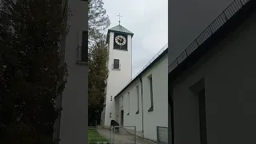
[{"label": "nave wall section right of the downpipe, in the bright central strip", "polygon": [[[150,109],[150,82],[152,76],[154,111]],[[168,127],[168,57],[167,54],[142,75],[144,137],[157,140],[156,126]]]}]

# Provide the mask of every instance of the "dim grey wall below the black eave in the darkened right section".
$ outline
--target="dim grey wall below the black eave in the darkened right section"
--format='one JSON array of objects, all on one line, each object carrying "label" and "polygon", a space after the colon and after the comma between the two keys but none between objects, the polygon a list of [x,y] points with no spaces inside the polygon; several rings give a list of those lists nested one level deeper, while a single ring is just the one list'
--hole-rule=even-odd
[{"label": "dim grey wall below the black eave in the darkened right section", "polygon": [[190,86],[205,79],[208,144],[255,143],[256,14],[182,74],[173,89],[174,142],[200,143],[198,99]]}]

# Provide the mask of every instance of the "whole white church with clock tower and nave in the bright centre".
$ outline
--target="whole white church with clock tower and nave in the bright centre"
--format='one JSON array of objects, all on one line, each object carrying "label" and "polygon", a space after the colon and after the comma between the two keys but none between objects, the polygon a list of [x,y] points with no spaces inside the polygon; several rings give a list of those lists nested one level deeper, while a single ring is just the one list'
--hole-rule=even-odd
[{"label": "whole white church with clock tower and nave in the bright centre", "polygon": [[168,127],[168,46],[132,78],[133,36],[120,23],[108,30],[109,76],[101,123],[136,126],[139,137],[156,142],[157,126]]}]

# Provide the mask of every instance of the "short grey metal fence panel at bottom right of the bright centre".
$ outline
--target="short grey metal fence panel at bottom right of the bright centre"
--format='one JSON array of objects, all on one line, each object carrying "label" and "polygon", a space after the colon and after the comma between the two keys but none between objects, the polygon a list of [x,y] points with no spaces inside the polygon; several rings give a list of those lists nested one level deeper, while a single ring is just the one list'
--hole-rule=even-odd
[{"label": "short grey metal fence panel at bottom right of the bright centre", "polygon": [[158,144],[168,144],[168,127],[157,126]]}]

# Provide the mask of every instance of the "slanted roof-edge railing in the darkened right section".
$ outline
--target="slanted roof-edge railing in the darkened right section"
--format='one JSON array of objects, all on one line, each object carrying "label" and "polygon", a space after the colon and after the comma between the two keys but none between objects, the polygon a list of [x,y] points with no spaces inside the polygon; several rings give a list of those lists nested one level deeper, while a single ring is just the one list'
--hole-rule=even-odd
[{"label": "slanted roof-edge railing in the darkened right section", "polygon": [[194,50],[196,50],[199,46],[202,45],[206,39],[210,38],[212,34],[216,30],[218,30],[224,23],[226,23],[234,14],[238,12],[247,2],[250,0],[234,0],[225,10],[223,10],[222,14],[218,16],[208,27],[206,30],[203,30],[201,34],[197,38],[195,38],[194,42],[191,42],[190,45],[186,48],[186,50],[182,51],[182,54],[178,55],[178,58],[174,60],[168,66],[169,73],[174,70],[182,61],[184,61]]}]

